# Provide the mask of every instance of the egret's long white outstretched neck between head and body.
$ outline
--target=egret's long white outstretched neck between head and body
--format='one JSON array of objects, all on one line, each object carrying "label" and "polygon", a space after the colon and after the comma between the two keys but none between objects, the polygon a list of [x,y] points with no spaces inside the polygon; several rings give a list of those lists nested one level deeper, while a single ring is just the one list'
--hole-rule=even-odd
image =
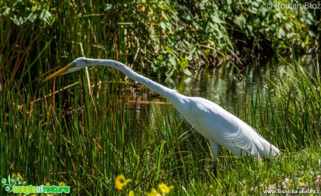
[{"label": "egret's long white outstretched neck between head and body", "polygon": [[183,95],[177,93],[177,91],[173,89],[169,89],[166,86],[163,86],[152,80],[149,80],[147,77],[144,77],[143,75],[135,73],[133,70],[128,68],[128,66],[125,66],[123,63],[120,63],[118,61],[105,60],[105,59],[91,59],[91,60],[93,60],[91,64],[95,64],[98,66],[109,66],[117,70],[120,70],[122,73],[124,73],[131,79],[136,80],[137,82],[140,82],[140,84],[147,86],[152,91],[155,91],[156,93],[162,96],[165,96],[165,98],[167,98],[167,100],[169,100],[173,104],[179,101],[179,97],[184,97]]}]

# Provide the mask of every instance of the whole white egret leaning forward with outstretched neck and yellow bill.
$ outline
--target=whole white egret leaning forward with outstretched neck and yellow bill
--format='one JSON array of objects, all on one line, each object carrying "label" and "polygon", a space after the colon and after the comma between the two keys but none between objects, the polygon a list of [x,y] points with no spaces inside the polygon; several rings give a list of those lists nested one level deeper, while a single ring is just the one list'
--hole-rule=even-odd
[{"label": "whole white egret leaning forward with outstretched neck and yellow bill", "polygon": [[158,84],[125,66],[123,63],[105,59],[87,59],[84,57],[75,59],[68,66],[58,70],[43,81],[52,77],[80,70],[89,66],[108,66],[120,70],[133,80],[144,84],[152,91],[165,96],[176,110],[184,116],[211,146],[211,152],[216,162],[218,158],[218,146],[224,146],[235,156],[241,158],[251,154],[257,158],[269,158],[279,156],[280,150],[265,140],[254,128],[230,112],[227,112],[216,103],[200,97],[188,97],[181,95],[173,89]]}]

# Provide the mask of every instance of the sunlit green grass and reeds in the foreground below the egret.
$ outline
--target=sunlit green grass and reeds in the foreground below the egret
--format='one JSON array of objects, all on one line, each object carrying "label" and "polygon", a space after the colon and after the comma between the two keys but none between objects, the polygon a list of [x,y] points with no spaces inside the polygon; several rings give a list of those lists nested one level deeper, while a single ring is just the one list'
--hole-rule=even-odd
[{"label": "sunlit green grass and reeds in the foreground below the egret", "polygon": [[[172,195],[319,190],[320,79],[301,68],[289,77],[290,84],[270,83],[266,96],[247,98],[248,123],[280,147],[281,158],[240,159],[220,149],[217,176],[209,144],[171,105],[151,103],[149,121],[133,126],[130,103],[112,101],[119,99],[112,89],[125,84],[105,83],[90,95],[80,80],[38,101],[24,92],[2,94],[1,174],[19,172],[32,185],[65,181],[71,195],[147,195],[160,183],[173,186]],[[131,179],[124,190],[114,186],[117,174]]]}]

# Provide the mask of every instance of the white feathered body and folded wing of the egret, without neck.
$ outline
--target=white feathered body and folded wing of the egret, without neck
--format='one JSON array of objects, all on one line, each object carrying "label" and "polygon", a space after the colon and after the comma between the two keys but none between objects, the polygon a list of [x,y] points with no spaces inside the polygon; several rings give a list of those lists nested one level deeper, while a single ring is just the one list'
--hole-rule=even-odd
[{"label": "white feathered body and folded wing of the egret, without neck", "polygon": [[200,134],[230,149],[234,155],[243,156],[251,153],[253,156],[269,156],[273,145],[269,144],[251,126],[215,103],[200,98],[191,114],[193,117],[188,118],[187,116],[186,120],[192,119],[188,122],[194,124]]}]

